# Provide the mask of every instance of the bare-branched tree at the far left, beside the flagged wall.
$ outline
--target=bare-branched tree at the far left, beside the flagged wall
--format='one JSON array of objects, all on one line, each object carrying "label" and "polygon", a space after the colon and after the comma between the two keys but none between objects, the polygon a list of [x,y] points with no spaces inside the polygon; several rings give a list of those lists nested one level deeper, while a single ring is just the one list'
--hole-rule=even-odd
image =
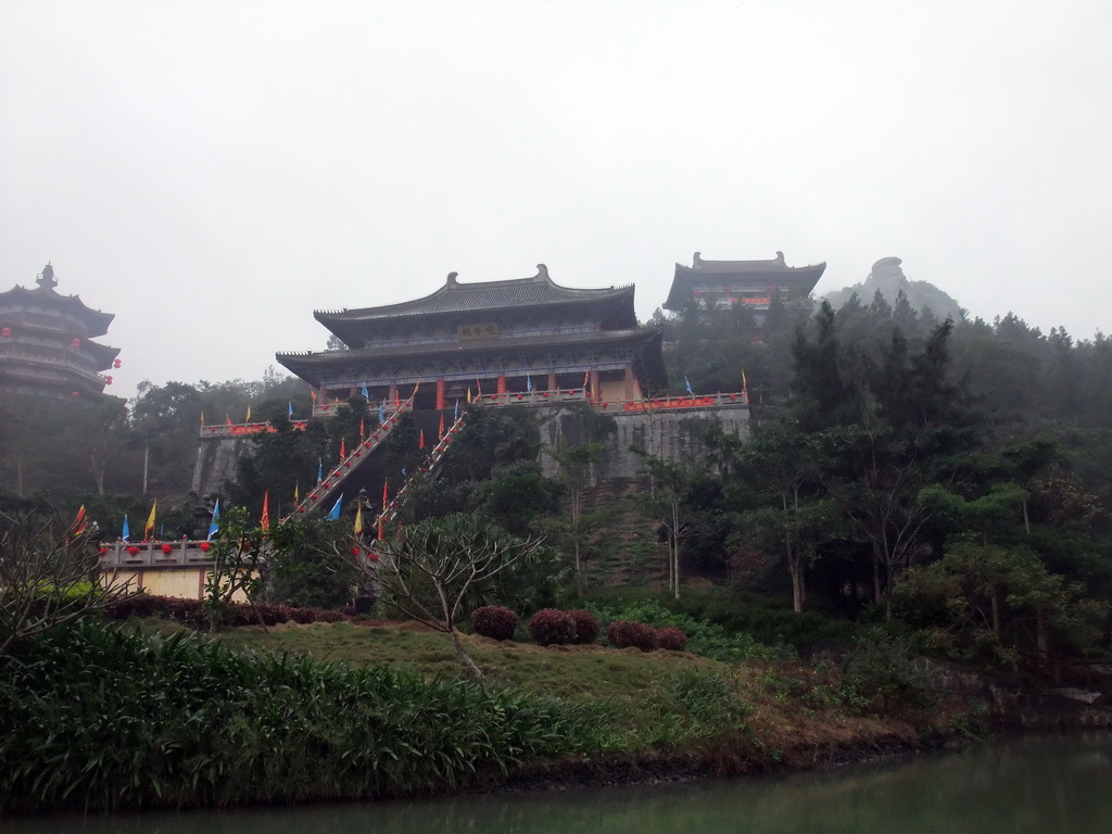
[{"label": "bare-branched tree at the far left, beside the flagged wall", "polygon": [[0,512],[0,657],[27,637],[102,609],[130,583],[99,568],[83,524]]}]

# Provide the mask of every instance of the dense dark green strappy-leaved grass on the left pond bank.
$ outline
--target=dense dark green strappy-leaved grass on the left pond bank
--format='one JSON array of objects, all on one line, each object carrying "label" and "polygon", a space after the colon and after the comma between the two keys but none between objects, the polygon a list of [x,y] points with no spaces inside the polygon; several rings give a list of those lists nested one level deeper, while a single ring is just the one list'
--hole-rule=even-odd
[{"label": "dense dark green strappy-leaved grass on the left pond bank", "polygon": [[375,798],[595,744],[554,698],[83,623],[0,667],[0,811]]}]

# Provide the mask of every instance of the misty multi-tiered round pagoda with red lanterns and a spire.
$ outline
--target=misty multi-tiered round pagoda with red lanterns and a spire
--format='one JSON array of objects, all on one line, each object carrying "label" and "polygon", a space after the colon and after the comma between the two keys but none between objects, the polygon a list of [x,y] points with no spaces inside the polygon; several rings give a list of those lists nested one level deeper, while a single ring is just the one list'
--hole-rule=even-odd
[{"label": "misty multi-tiered round pagoda with red lanterns and a spire", "polygon": [[111,383],[100,371],[119,366],[119,348],[93,341],[115,316],[78,296],[54,291],[50,264],[34,289],[0,292],[0,393],[49,397],[96,396]]}]

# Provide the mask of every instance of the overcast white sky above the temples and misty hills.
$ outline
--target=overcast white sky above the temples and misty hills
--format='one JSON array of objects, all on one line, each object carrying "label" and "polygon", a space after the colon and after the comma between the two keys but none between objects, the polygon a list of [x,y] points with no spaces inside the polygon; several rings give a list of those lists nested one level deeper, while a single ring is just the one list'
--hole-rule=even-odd
[{"label": "overcast white sky above the temples and misty hills", "polygon": [[0,0],[0,290],[116,314],[110,393],[258,379],[317,308],[885,256],[1109,331],[1109,0]]}]

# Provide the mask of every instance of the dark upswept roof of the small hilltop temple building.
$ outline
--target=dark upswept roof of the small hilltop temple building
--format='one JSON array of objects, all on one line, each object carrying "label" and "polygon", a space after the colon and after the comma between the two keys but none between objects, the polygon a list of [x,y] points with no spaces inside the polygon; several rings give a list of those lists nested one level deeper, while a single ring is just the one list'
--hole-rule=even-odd
[{"label": "dark upswept roof of the small hilltop temple building", "polygon": [[676,264],[664,308],[678,310],[696,290],[707,289],[726,294],[732,289],[774,288],[795,296],[806,296],[818,284],[825,270],[825,261],[790,267],[781,251],[771,260],[704,260],[699,252],[695,252],[692,266]]}]

